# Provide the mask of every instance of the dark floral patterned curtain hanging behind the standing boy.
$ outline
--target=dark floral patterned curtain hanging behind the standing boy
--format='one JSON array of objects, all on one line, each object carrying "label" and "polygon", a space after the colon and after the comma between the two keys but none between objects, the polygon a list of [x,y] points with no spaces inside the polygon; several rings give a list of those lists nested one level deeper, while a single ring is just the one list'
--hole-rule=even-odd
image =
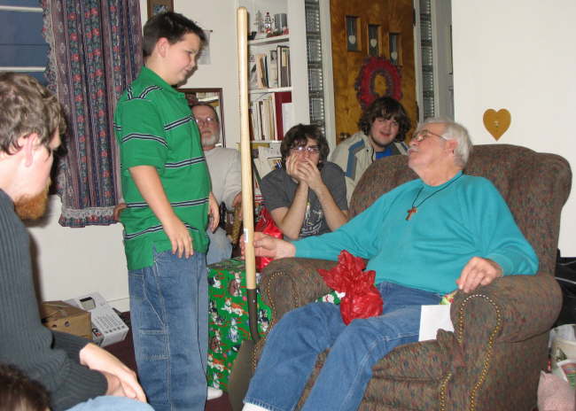
[{"label": "dark floral patterned curtain hanging behind the standing boy", "polygon": [[64,106],[67,154],[58,164],[59,223],[113,223],[119,198],[116,102],[143,65],[138,0],[42,0],[49,88]]}]

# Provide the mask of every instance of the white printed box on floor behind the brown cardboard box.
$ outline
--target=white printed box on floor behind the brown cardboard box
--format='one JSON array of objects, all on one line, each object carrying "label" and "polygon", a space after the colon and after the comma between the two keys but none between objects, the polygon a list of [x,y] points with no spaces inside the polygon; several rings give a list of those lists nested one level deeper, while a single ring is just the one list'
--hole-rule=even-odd
[{"label": "white printed box on floor behind the brown cardboard box", "polygon": [[92,320],[92,341],[100,346],[122,341],[128,334],[128,326],[116,314],[99,292],[91,292],[66,303],[87,310]]}]

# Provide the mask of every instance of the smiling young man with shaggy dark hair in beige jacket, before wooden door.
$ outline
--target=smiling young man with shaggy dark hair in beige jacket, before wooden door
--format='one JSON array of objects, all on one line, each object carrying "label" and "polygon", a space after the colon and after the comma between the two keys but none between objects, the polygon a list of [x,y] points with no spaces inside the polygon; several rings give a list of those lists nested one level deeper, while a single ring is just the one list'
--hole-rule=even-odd
[{"label": "smiling young man with shaggy dark hair in beige jacket, before wooden door", "polygon": [[348,203],[370,164],[377,159],[408,153],[404,138],[410,129],[410,119],[404,107],[392,97],[374,100],[362,112],[358,127],[360,131],[339,143],[330,159],[346,174]]}]

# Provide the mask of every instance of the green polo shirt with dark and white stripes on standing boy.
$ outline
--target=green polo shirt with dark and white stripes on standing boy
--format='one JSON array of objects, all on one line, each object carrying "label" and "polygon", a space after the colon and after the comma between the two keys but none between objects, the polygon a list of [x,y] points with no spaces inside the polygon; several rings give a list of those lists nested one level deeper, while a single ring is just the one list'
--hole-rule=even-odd
[{"label": "green polo shirt with dark and white stripes on standing boy", "polygon": [[195,252],[206,252],[210,177],[198,127],[183,93],[143,67],[124,91],[114,130],[121,153],[121,183],[127,208],[121,213],[128,269],[152,266],[153,250],[172,245],[128,169],[156,167],[175,214],[190,230]]}]

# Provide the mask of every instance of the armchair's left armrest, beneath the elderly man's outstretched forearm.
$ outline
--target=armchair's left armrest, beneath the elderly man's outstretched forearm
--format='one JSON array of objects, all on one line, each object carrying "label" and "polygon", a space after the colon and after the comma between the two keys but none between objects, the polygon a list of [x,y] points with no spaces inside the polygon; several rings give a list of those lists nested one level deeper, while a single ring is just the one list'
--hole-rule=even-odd
[{"label": "armchair's left armrest, beneath the elderly man's outstretched forearm", "polygon": [[261,298],[272,309],[273,322],[299,306],[315,301],[331,289],[316,271],[330,269],[336,261],[289,258],[274,260],[262,270]]}]

